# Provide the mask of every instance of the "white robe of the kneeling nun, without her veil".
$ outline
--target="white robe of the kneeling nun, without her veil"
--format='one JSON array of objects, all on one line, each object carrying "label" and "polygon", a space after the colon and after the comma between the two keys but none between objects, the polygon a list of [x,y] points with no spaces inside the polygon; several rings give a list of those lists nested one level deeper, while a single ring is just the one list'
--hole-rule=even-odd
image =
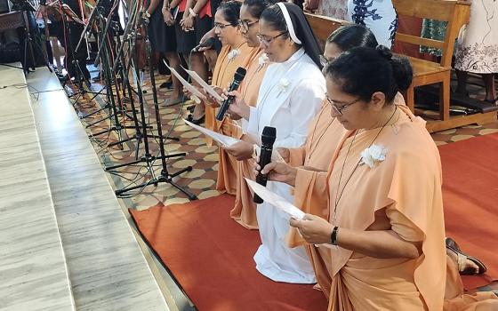
[{"label": "white robe of the kneeling nun, without her veil", "polygon": [[[286,87],[283,78],[288,82]],[[273,126],[277,129],[274,148],[300,147],[324,99],[325,78],[301,49],[289,60],[269,65],[261,82],[258,105],[251,108],[247,132],[261,140],[264,127]],[[269,181],[267,187],[293,202],[288,185]],[[258,204],[256,215],[262,242],[254,255],[258,271],[277,282],[316,283],[304,248],[285,245],[289,217],[268,203]]]}]

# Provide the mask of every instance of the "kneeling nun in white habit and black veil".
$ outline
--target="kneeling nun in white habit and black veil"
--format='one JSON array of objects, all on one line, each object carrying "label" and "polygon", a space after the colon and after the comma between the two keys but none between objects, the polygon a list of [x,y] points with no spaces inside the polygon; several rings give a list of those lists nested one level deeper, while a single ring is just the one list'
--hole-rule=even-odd
[{"label": "kneeling nun in white habit and black veil", "polygon": [[[317,39],[298,6],[269,6],[261,14],[257,36],[271,62],[261,82],[257,105],[250,107],[238,92],[230,93],[236,100],[229,113],[247,121],[245,141],[227,148],[239,160],[253,156],[253,145],[261,144],[265,126],[277,129],[274,150],[300,147],[306,140],[310,121],[325,99]],[[269,181],[267,187],[293,202],[288,185]],[[258,204],[256,215],[262,242],[254,255],[258,271],[277,282],[316,283],[305,249],[285,245],[288,216],[268,203]]]}]

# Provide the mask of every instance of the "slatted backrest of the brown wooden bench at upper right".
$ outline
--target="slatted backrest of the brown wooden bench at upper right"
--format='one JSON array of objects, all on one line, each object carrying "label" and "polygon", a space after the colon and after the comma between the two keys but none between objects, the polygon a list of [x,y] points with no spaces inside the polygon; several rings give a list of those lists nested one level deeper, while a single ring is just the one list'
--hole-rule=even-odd
[{"label": "slatted backrest of the brown wooden bench at upper right", "polygon": [[470,2],[457,0],[392,0],[398,15],[447,21],[445,41],[396,33],[396,40],[407,44],[425,45],[442,50],[440,65],[451,67],[454,40],[460,28],[469,22]]}]

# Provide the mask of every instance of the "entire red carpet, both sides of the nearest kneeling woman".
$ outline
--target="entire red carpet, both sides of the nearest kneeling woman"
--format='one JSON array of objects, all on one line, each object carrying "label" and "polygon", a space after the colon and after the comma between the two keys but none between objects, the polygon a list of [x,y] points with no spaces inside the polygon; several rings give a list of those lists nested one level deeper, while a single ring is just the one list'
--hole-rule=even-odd
[{"label": "entire red carpet, both sides of the nearest kneeling woman", "polygon": [[[488,269],[484,276],[464,276],[465,287],[484,286],[498,280],[498,134],[439,150],[446,235]],[[326,310],[325,296],[310,285],[275,283],[256,271],[260,237],[229,219],[233,202],[219,195],[130,212],[199,310]]]}]

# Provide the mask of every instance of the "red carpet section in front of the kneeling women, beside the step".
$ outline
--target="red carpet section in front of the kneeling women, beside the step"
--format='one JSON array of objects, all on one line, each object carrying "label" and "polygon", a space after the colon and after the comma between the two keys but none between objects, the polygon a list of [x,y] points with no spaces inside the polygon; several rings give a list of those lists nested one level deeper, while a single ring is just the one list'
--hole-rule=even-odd
[{"label": "red carpet section in front of the kneeling women, beside the step", "polygon": [[233,205],[219,195],[130,213],[200,311],[326,310],[312,285],[275,283],[256,270],[260,235],[229,218]]}]

